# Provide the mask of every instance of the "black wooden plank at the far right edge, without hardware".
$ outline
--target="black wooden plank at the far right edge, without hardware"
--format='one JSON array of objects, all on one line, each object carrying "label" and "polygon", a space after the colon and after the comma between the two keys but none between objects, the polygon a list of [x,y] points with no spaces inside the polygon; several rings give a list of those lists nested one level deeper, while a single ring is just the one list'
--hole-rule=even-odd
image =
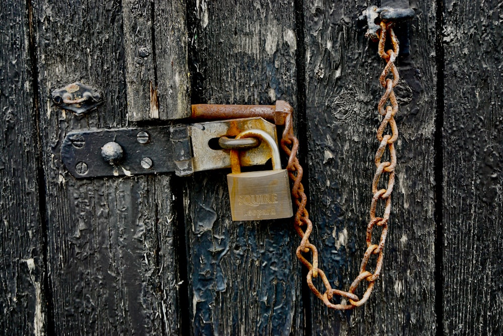
[{"label": "black wooden plank at the far right edge, without hardware", "polygon": [[491,335],[503,330],[500,5],[445,3],[445,334]]}]

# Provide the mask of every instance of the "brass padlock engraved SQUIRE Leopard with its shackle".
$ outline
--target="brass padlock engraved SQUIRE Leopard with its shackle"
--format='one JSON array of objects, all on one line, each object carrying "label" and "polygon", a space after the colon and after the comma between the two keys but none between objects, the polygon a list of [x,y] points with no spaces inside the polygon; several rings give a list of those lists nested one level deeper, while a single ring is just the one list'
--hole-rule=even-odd
[{"label": "brass padlock engraved SQUIRE Leopard with its shackle", "polygon": [[281,169],[278,145],[261,129],[248,129],[236,136],[259,138],[271,148],[273,170],[241,173],[237,150],[230,151],[232,173],[227,174],[233,221],[254,221],[293,216],[288,172]]}]

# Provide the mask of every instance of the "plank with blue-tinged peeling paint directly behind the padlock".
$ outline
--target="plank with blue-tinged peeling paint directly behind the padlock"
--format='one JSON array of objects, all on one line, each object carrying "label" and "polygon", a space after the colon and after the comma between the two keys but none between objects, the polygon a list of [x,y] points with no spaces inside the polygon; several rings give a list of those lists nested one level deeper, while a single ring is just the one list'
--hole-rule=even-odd
[{"label": "plank with blue-tinged peeling paint directly behind the padlock", "polygon": [[[193,103],[296,106],[293,2],[190,2]],[[303,334],[292,220],[232,222],[230,170],[185,188],[193,334]]]}]

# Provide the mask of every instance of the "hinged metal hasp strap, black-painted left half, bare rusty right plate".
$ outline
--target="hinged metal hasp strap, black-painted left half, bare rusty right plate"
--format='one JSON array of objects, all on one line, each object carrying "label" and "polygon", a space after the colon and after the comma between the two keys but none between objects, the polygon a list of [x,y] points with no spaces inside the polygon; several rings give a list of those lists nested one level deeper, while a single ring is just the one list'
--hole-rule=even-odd
[{"label": "hinged metal hasp strap, black-painted left half, bare rusty right plate", "polygon": [[[77,178],[130,176],[230,167],[228,149],[212,149],[210,141],[232,138],[246,129],[263,129],[277,139],[276,126],[263,118],[243,118],[189,125],[74,131],[61,145],[61,160]],[[267,144],[240,151],[242,166],[265,164]]]}]

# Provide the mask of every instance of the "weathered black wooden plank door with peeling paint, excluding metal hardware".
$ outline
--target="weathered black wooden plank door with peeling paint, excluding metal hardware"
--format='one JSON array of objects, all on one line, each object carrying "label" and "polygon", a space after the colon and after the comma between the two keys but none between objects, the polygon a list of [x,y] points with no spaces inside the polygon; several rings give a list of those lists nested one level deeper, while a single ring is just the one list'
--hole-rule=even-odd
[{"label": "weathered black wooden plank door with peeling paint, excluding metal hardware", "polygon": [[[227,169],[75,179],[69,131],[187,122],[190,105],[295,109],[311,241],[359,272],[384,63],[358,17],[411,7],[382,275],[331,311],[292,220],[232,222]],[[3,334],[499,334],[503,14],[495,1],[6,0],[0,12]],[[83,117],[54,89],[104,102]],[[174,121],[175,120],[175,121]],[[317,284],[320,285],[320,284]]]}]

